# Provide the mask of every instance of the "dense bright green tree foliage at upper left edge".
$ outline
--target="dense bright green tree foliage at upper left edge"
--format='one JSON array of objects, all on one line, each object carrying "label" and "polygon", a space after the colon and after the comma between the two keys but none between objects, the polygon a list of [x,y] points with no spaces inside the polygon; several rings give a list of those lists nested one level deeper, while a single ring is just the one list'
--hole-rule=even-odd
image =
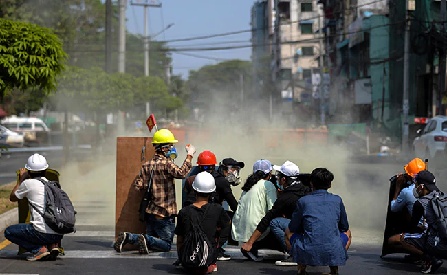
[{"label": "dense bright green tree foliage at upper left edge", "polygon": [[0,96],[17,87],[56,89],[66,54],[52,30],[0,19]]}]

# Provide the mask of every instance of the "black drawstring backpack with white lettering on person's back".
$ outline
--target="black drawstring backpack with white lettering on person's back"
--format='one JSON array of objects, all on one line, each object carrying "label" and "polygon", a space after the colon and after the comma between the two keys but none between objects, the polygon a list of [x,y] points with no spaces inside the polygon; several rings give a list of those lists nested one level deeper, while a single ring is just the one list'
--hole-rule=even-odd
[{"label": "black drawstring backpack with white lettering on person's back", "polygon": [[[179,250],[179,260],[185,268],[208,267],[212,263],[215,263],[217,259],[217,250],[215,249],[215,246],[208,240],[208,237],[200,226],[211,207],[212,204],[209,204],[208,208],[206,208],[204,217],[198,225],[194,225],[191,221],[193,228],[186,233],[184,243]],[[186,212],[189,213],[189,217],[192,217],[191,208],[192,206],[185,208]]]}]

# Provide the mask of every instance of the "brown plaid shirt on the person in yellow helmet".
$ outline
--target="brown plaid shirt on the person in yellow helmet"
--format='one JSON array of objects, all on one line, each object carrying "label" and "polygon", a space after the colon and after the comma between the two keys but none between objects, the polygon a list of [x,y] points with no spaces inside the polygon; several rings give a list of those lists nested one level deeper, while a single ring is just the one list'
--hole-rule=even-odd
[{"label": "brown plaid shirt on the person in yellow helmet", "polygon": [[141,166],[140,175],[135,181],[136,190],[147,190],[154,164],[151,186],[152,203],[149,203],[146,212],[161,217],[176,215],[174,179],[184,179],[193,166],[188,159],[185,159],[182,167],[179,167],[173,162],[173,159],[155,154],[152,159]]}]

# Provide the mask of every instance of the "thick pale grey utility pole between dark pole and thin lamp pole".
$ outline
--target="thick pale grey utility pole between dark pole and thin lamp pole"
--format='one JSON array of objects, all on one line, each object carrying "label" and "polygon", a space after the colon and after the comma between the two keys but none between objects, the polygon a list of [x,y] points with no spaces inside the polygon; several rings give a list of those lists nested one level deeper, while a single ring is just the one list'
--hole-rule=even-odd
[{"label": "thick pale grey utility pole between dark pole and thin lamp pole", "polygon": [[[118,72],[126,72],[126,6],[127,0],[118,1],[119,10],[119,28],[118,28]],[[126,131],[126,123],[124,121],[124,112],[118,111],[118,135],[123,135]]]}]

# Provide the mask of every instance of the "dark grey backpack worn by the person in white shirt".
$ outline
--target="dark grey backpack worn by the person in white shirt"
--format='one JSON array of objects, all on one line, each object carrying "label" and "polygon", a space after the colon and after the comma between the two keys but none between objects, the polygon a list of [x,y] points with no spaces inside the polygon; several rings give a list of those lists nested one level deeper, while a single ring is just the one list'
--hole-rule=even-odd
[{"label": "dark grey backpack worn by the person in white shirt", "polygon": [[74,228],[76,211],[58,181],[45,181],[40,177],[34,179],[41,181],[45,186],[45,206],[43,213],[30,203],[32,208],[43,217],[45,223],[54,232],[59,234],[76,232],[76,228]]}]

